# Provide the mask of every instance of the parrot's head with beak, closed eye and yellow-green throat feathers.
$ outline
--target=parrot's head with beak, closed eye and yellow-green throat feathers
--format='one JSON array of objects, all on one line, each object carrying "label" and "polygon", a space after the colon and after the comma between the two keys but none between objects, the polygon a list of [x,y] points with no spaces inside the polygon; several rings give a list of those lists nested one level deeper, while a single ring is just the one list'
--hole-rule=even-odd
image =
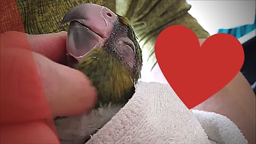
[{"label": "parrot's head with beak, closed eye and yellow-green throat feathers", "polygon": [[125,103],[140,77],[142,54],[129,20],[107,7],[82,4],[70,9],[69,65],[83,71],[98,91],[98,106]]}]

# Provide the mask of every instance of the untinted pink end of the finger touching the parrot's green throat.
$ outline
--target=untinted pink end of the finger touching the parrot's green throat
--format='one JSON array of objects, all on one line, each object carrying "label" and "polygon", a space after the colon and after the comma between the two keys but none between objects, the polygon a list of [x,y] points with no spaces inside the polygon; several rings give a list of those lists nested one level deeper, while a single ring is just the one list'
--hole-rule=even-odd
[{"label": "untinted pink end of the finger touching the parrot's green throat", "polygon": [[91,110],[96,90],[81,71],[33,52],[38,74],[53,116],[70,116]]}]

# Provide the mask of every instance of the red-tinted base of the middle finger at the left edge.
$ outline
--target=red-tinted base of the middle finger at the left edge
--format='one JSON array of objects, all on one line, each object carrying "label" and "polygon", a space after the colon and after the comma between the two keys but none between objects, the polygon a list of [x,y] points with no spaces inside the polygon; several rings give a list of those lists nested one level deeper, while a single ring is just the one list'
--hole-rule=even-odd
[{"label": "red-tinted base of the middle finger at the left edge", "polygon": [[51,118],[33,54],[15,47],[1,47],[0,54],[1,124]]}]

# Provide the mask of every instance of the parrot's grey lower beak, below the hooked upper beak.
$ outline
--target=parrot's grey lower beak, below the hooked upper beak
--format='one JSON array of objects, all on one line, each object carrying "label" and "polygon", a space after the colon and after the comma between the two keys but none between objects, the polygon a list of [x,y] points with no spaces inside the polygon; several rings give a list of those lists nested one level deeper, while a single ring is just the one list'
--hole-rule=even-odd
[{"label": "parrot's grey lower beak, below the hooked upper beak", "polygon": [[67,36],[67,56],[70,66],[82,61],[93,48],[103,46],[105,39],[78,21],[71,21]]}]

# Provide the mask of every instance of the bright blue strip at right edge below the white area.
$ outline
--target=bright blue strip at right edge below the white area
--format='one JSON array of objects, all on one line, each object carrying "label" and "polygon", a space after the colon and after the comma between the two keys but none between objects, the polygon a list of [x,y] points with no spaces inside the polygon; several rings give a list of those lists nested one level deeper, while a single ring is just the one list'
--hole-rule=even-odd
[{"label": "bright blue strip at right edge below the white area", "polygon": [[235,36],[237,39],[250,33],[252,30],[255,29],[255,22],[256,22],[256,15],[253,25],[244,25],[236,28],[230,29],[219,29],[218,33],[226,33]]}]

